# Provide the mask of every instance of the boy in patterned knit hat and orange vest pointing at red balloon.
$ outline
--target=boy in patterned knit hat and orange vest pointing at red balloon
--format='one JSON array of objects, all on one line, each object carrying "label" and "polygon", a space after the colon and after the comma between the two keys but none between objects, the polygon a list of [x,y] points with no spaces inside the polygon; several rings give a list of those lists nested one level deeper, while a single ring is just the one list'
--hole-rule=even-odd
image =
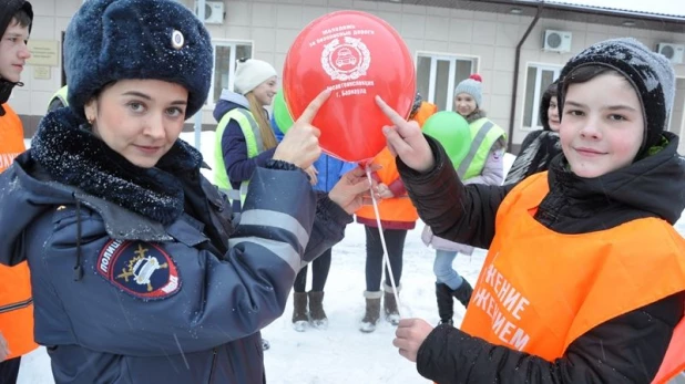
[{"label": "boy in patterned knit hat and orange vest pointing at red balloon", "polygon": [[419,216],[489,248],[461,329],[402,319],[393,345],[446,383],[666,383],[685,369],[685,162],[664,131],[675,73],[634,39],[561,71],[563,156],[518,185],[464,186],[444,151],[379,105]]}]

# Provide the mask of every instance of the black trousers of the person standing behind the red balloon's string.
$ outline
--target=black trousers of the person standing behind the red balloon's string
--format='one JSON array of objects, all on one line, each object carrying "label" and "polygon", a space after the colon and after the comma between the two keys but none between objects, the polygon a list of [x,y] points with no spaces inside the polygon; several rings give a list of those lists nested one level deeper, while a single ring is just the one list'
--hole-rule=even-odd
[{"label": "black trousers of the person standing behind the red balloon's string", "polygon": [[[380,243],[380,232],[376,227],[366,227],[366,290],[369,292],[380,291],[380,273],[382,269],[382,245]],[[388,247],[388,259],[392,268],[392,278],[399,286],[402,277],[402,252],[405,251],[405,239],[407,229],[386,229],[384,230],[386,246]],[[390,284],[388,279],[388,268],[386,268],[386,284]]]}]

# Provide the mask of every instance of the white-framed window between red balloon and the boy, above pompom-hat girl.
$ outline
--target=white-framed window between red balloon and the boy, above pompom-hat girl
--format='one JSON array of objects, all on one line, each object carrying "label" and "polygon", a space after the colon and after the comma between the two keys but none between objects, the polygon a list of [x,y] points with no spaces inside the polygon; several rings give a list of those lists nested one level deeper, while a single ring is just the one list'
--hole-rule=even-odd
[{"label": "white-framed window between red balloon and the boy, above pompom-hat girl", "polygon": [[476,58],[419,53],[417,89],[423,100],[438,105],[438,110],[452,111],[454,87],[477,71],[477,64]]}]

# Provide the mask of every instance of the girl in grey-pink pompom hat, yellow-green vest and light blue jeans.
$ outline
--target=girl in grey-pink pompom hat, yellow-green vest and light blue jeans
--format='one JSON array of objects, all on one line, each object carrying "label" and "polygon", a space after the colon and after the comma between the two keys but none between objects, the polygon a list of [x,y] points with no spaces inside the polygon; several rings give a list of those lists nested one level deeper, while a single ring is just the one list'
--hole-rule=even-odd
[{"label": "girl in grey-pink pompom hat, yellow-green vest and light blue jeans", "polygon": [[[467,185],[497,186],[501,185],[504,179],[507,134],[504,129],[485,117],[482,108],[481,81],[479,74],[472,74],[454,89],[454,110],[469,122],[472,141],[469,153],[461,162],[457,174]],[[471,284],[457,273],[452,262],[458,253],[472,255],[473,247],[434,236],[429,226],[423,228],[421,239],[423,243],[436,250],[433,273],[437,280],[436,298],[440,323],[452,324],[453,299],[467,307],[473,292]]]}]

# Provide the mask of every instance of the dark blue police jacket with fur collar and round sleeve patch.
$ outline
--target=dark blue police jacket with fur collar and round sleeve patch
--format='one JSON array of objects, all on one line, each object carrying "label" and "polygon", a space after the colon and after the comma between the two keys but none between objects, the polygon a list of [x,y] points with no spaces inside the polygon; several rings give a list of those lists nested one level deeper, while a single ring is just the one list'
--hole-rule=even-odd
[{"label": "dark blue police jacket with fur collar and round sleeve patch", "polygon": [[55,382],[263,383],[259,330],[351,218],[258,167],[236,222],[190,145],[139,168],[80,124],[48,114],[0,174],[0,262],[29,261]]}]

